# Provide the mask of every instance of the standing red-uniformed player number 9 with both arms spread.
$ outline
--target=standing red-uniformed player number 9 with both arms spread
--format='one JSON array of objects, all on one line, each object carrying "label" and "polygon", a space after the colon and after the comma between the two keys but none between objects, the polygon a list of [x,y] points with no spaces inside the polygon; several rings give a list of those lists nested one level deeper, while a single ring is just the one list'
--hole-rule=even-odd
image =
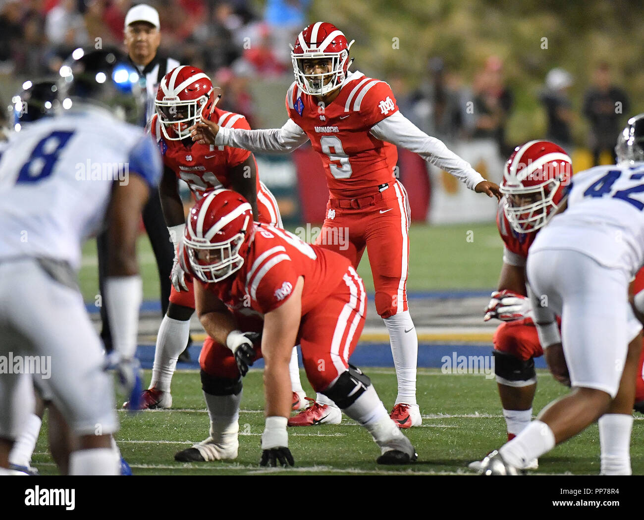
[{"label": "standing red-uniformed player number 9 with both arms spread", "polygon": [[[345,255],[354,267],[368,248],[375,307],[390,335],[398,380],[391,416],[408,428],[420,425],[422,418],[416,400],[418,339],[406,293],[410,214],[406,190],[394,174],[395,146],[419,153],[471,190],[497,198],[500,192],[440,140],[407,120],[388,84],[348,71],[352,43],[330,23],[316,22],[299,33],[291,53],[296,81],[287,93],[289,120],[283,127],[229,129],[202,118],[192,135],[200,144],[273,153],[290,152],[310,140],[330,190],[317,243]],[[343,228],[348,229],[348,249],[323,239],[338,236]],[[317,402],[289,424],[339,423],[340,418],[337,407],[318,395]]]}]

